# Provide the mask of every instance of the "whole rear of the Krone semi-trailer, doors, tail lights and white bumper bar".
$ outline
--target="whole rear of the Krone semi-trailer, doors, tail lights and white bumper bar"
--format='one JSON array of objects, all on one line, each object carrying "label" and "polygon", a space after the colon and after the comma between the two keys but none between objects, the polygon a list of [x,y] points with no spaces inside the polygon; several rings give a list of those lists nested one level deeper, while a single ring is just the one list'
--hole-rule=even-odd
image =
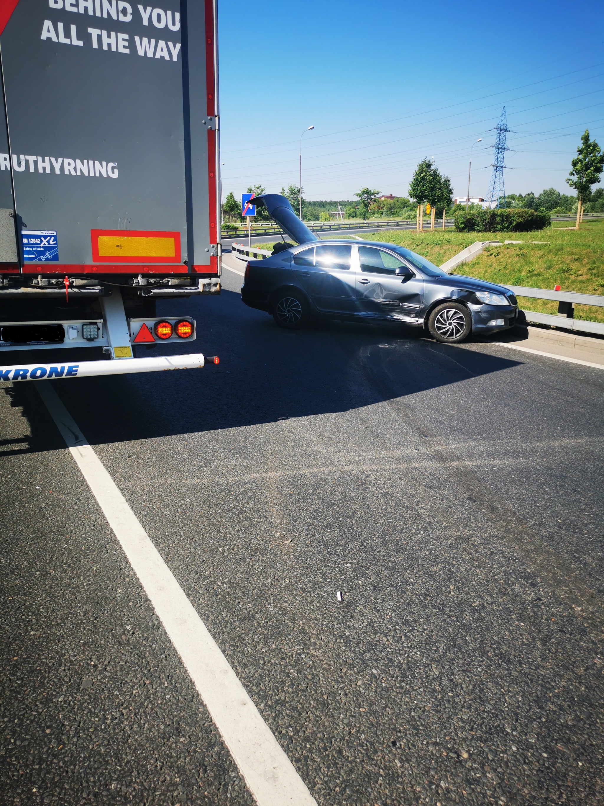
[{"label": "whole rear of the Krone semi-trailer, doors, tail lights and white bumper bar", "polygon": [[216,2],[2,0],[0,56],[0,378],[167,368],[155,302],[220,292]]}]

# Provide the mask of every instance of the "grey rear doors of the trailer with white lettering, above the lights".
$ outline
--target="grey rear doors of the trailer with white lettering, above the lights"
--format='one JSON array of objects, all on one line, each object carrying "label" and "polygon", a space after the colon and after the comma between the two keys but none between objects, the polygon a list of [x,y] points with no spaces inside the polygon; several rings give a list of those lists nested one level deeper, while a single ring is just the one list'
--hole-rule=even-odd
[{"label": "grey rear doors of the trailer with white lettering, above the lights", "polygon": [[[214,141],[189,113],[213,85],[214,19],[208,0],[19,0],[0,37],[12,152],[0,199],[12,172],[23,229],[58,244],[23,272],[217,272]],[[183,65],[184,52],[201,57]],[[154,233],[176,233],[180,249]]]}]

